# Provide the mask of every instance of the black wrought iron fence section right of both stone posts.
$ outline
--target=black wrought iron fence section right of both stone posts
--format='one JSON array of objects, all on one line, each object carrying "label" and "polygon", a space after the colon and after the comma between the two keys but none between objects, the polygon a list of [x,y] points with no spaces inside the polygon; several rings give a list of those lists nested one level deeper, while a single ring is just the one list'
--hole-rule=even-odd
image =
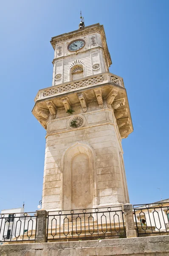
[{"label": "black wrought iron fence section right of both stone posts", "polygon": [[133,205],[138,236],[169,233],[169,202]]}]

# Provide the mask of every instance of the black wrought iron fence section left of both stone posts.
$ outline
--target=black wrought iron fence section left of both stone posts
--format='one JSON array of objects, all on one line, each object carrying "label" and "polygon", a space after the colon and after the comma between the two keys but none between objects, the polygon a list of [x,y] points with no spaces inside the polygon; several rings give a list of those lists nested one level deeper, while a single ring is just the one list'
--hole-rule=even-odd
[{"label": "black wrought iron fence section left of both stone posts", "polygon": [[36,212],[0,214],[0,242],[28,241],[36,238]]}]

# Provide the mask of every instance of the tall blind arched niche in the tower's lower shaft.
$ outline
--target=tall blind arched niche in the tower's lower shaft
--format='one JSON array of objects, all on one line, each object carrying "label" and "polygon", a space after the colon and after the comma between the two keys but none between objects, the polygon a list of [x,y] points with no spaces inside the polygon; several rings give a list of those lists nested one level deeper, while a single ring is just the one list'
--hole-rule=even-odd
[{"label": "tall blind arched niche in the tower's lower shaft", "polygon": [[94,151],[85,143],[70,146],[62,157],[62,209],[97,205]]}]

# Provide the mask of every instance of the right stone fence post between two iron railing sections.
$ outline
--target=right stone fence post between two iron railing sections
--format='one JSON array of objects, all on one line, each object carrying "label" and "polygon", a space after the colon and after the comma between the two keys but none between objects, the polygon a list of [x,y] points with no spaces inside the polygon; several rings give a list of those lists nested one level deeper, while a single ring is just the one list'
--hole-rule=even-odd
[{"label": "right stone fence post between two iron railing sections", "polygon": [[134,219],[133,219],[132,204],[124,204],[124,216],[126,221],[127,238],[137,237]]}]

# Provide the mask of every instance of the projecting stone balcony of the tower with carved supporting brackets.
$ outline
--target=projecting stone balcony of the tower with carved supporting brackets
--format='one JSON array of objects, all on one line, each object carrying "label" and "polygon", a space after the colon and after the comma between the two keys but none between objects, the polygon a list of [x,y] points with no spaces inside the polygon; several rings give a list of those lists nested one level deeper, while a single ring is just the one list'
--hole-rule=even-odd
[{"label": "projecting stone balcony of the tower with carved supporting brackets", "polygon": [[[61,117],[57,115],[57,111],[62,109],[65,111],[64,115],[67,116],[70,114],[67,113],[69,109],[75,109],[74,116],[80,114],[81,111],[82,113],[87,112],[88,107],[96,102],[97,111],[111,110],[113,112],[116,120],[114,125],[116,128],[118,127],[117,130],[120,134],[119,139],[126,138],[133,131],[123,79],[109,72],[41,89],[34,102],[32,113],[45,129],[47,129],[49,119]],[[78,110],[75,108],[78,104],[81,105],[81,111],[79,108]],[[90,126],[89,124],[85,125]]]}]

